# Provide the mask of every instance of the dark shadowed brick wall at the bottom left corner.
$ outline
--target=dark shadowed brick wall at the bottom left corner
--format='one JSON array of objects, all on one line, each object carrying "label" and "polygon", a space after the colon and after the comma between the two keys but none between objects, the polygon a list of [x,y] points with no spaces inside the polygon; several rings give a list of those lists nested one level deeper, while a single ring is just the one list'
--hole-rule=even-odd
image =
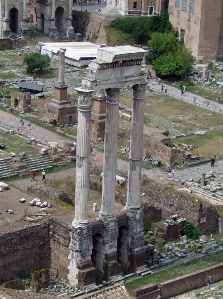
[{"label": "dark shadowed brick wall at the bottom left corner", "polygon": [[0,233],[0,281],[31,275],[48,267],[48,223]]}]

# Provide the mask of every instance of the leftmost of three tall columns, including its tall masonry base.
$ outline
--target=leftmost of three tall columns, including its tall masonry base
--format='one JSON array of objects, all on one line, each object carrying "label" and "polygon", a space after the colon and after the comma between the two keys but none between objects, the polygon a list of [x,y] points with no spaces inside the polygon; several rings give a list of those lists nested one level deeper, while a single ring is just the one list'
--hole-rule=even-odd
[{"label": "leftmost of three tall columns, including its tall masonry base", "polygon": [[92,91],[76,88],[78,93],[78,125],[76,149],[75,218],[70,227],[71,260],[68,279],[71,286],[83,289],[95,282],[92,267],[92,227],[87,211],[90,180],[90,114]]}]

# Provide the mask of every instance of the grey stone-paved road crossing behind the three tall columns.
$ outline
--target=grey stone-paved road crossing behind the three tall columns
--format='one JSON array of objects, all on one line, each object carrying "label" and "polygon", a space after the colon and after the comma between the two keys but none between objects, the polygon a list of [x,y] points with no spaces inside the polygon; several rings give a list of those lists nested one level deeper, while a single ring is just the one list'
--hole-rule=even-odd
[{"label": "grey stone-paved road crossing behind the three tall columns", "polygon": [[[0,110],[0,122],[6,123],[7,125],[14,126],[15,131],[16,128],[20,129],[20,118],[12,115],[10,113],[4,112]],[[66,137],[60,136],[59,134],[56,134],[54,132],[51,132],[50,130],[47,130],[45,128],[39,127],[37,125],[31,124],[31,128],[28,128],[27,121],[25,121],[24,124],[24,130],[22,130],[23,133],[27,133],[29,135],[30,133],[33,136],[36,136],[38,138],[42,138],[44,141],[55,141],[58,143],[59,147],[63,147],[65,142],[70,141]],[[102,160],[103,160],[103,153],[97,150],[94,150],[93,156],[91,157],[93,164],[100,164],[102,165]],[[217,161],[215,163],[214,169],[211,168],[211,163],[208,164],[202,164],[194,167],[188,167],[184,168],[181,170],[177,170],[175,174],[175,179],[176,180],[181,180],[181,179],[187,179],[190,177],[198,177],[202,173],[208,173],[210,170],[214,170],[217,173],[223,173],[223,160]],[[128,169],[128,162],[118,159],[117,160],[117,167],[119,169]],[[163,171],[160,168],[154,167],[151,169],[143,169],[142,174],[148,176],[149,178],[158,181],[158,182],[168,182],[170,181],[167,177],[167,172]]]}]

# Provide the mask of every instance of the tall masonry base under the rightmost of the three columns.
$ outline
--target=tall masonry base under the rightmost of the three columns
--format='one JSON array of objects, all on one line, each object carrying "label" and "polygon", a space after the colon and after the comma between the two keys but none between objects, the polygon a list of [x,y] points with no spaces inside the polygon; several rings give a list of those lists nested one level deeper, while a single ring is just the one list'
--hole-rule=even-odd
[{"label": "tall masonry base under the rightmost of the three columns", "polygon": [[136,268],[146,264],[146,250],[143,236],[143,210],[142,208],[122,210],[128,216],[128,253],[127,265],[122,265],[129,272],[134,272]]}]

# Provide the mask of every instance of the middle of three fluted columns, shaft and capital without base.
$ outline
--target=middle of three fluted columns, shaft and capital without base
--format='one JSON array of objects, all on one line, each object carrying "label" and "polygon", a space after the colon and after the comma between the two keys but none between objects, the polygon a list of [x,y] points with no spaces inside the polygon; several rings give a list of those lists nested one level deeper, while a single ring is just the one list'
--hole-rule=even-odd
[{"label": "middle of three fluted columns, shaft and capital without base", "polygon": [[106,89],[106,93],[107,110],[105,121],[103,187],[100,215],[114,216],[120,88]]}]

